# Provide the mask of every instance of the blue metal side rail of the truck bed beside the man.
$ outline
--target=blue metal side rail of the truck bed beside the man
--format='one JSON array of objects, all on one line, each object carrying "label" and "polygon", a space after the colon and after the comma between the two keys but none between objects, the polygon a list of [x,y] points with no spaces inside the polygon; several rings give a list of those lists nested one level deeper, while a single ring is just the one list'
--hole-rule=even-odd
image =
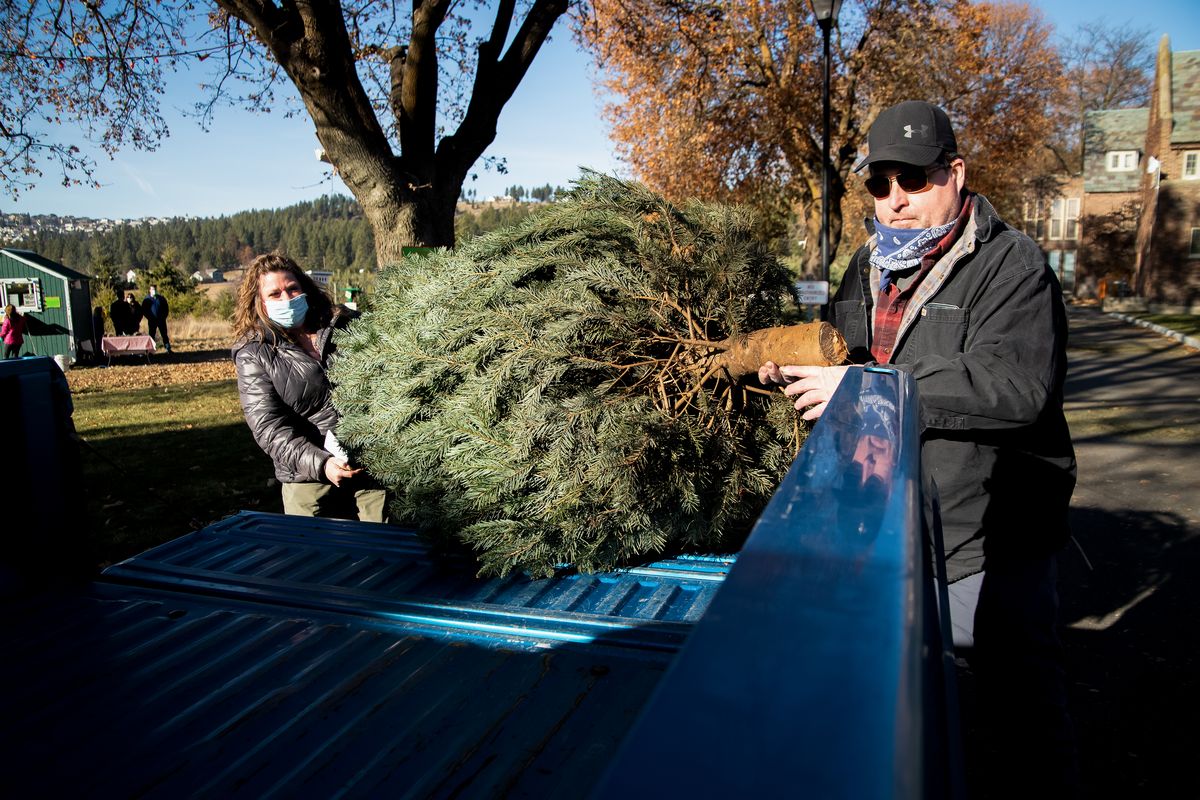
[{"label": "blue metal side rail of the truck bed beside the man", "polygon": [[960,790],[914,392],[847,373],[596,796]]}]

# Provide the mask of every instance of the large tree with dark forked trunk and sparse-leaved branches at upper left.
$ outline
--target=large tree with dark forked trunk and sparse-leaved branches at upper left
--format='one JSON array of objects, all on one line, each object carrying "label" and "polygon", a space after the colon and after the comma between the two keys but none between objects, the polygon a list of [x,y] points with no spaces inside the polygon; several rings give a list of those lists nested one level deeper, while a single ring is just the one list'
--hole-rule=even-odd
[{"label": "large tree with dark forked trunk and sparse-leaved branches at upper left", "polygon": [[[130,143],[154,149],[168,134],[160,113],[164,74],[203,62],[208,94],[194,106],[202,126],[226,104],[256,112],[281,98],[302,104],[325,157],[374,228],[380,261],[404,245],[452,245],[463,179],[570,5],[498,0],[486,35],[476,37],[475,14],[455,12],[452,0],[193,2],[5,5],[4,188],[19,194],[32,186],[42,158],[59,164],[64,182],[92,181],[95,164],[55,138],[65,124],[82,126],[109,154]],[[188,49],[197,34],[204,46]],[[439,125],[454,130],[440,143]]]}]

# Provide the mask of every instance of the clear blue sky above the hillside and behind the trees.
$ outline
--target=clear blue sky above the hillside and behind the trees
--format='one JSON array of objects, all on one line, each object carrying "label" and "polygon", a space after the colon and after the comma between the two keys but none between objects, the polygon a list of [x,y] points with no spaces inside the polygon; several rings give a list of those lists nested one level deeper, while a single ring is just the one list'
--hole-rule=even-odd
[{"label": "clear blue sky above the hillside and behind the trees", "polygon": [[[1196,0],[1055,0],[1032,4],[1061,34],[1081,22],[1104,19],[1162,34],[1171,49],[1200,49],[1200,2]],[[1136,11],[1136,13],[1135,13]],[[526,80],[500,115],[488,155],[508,160],[508,174],[475,170],[468,182],[478,197],[500,194],[514,184],[526,187],[566,186],[580,167],[620,172],[600,118],[594,68],[578,53],[565,25],[534,60]],[[102,187],[61,187],[53,173],[18,201],[0,198],[2,212],[59,213],[83,217],[220,216],[248,209],[275,209],[322,194],[349,192],[326,180],[313,151],[312,124],[304,115],[254,115],[222,110],[209,132],[182,118],[175,107],[196,100],[187,79],[164,108],[172,136],[154,152],[126,150],[114,160],[94,151]],[[71,130],[64,131],[64,139]]]}]

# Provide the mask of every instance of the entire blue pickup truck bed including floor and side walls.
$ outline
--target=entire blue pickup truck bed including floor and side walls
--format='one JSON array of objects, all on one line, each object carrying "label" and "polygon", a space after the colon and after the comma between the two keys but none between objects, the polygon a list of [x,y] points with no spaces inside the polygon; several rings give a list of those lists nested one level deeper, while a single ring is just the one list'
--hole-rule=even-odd
[{"label": "entire blue pickup truck bed including floor and side walls", "polygon": [[847,374],[736,560],[480,579],[404,529],[244,512],[72,583],[56,369],[0,362],[6,522],[37,533],[0,549],[5,798],[960,787],[906,375]]}]

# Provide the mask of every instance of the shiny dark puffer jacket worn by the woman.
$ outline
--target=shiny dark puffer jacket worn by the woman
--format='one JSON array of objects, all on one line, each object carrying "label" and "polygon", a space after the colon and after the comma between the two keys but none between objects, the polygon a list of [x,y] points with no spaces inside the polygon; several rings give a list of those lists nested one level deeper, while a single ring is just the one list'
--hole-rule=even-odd
[{"label": "shiny dark puffer jacket worn by the woman", "polygon": [[325,433],[337,425],[337,413],[325,369],[336,349],[334,330],[346,327],[354,315],[335,308],[332,321],[317,336],[320,362],[287,339],[272,344],[254,335],[233,345],[246,423],[283,483],[326,480]]}]

